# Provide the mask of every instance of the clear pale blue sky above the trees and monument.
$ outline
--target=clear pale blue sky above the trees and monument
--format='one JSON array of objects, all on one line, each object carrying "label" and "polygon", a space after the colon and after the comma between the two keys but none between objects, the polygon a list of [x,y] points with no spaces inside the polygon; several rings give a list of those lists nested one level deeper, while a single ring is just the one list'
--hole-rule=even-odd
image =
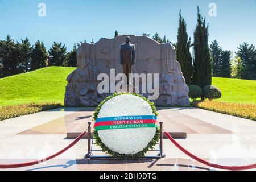
[{"label": "clear pale blue sky above the trees and monument", "polygon": [[[46,17],[38,16],[38,4],[46,4]],[[210,17],[209,3],[217,6]],[[193,38],[196,6],[209,23],[209,41],[217,39],[224,49],[237,51],[239,43],[256,46],[256,0],[0,0],[0,39],[10,34],[14,40],[26,36],[34,44],[43,40],[47,49],[53,41],[63,42],[68,50],[80,40],[155,32],[177,40],[178,14],[187,22]]]}]

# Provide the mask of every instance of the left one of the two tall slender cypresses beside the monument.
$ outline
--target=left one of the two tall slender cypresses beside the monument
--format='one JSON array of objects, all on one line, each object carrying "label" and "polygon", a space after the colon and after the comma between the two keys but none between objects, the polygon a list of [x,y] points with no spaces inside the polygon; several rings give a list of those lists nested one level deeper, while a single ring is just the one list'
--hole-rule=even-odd
[{"label": "left one of the two tall slender cypresses beside the monument", "polygon": [[189,51],[191,47],[191,39],[188,40],[188,34],[186,30],[186,23],[184,18],[181,16],[181,11],[179,13],[179,29],[177,35],[176,47],[176,59],[180,63],[181,71],[187,85],[192,84],[193,78],[193,65],[192,65],[192,56]]}]

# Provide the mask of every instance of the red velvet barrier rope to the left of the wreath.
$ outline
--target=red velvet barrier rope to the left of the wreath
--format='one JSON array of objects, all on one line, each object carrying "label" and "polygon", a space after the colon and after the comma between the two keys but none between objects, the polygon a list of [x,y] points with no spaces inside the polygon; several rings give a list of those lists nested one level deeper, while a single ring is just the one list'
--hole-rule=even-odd
[{"label": "red velvet barrier rope to the left of the wreath", "polygon": [[39,164],[39,163],[43,163],[46,162],[47,160],[50,160],[52,158],[55,158],[56,156],[63,154],[65,151],[67,151],[69,148],[73,147],[77,142],[79,142],[79,140],[85,135],[86,131],[84,131],[84,133],[82,133],[81,135],[79,135],[79,137],[77,137],[71,144],[69,144],[67,147],[63,148],[63,150],[48,156],[47,158],[44,159],[39,159],[39,160],[34,160],[31,162],[26,162],[26,163],[18,163],[18,164],[0,164],[0,168],[1,169],[7,169],[7,168],[19,168],[19,167],[26,167],[26,166],[32,166],[35,164]]}]

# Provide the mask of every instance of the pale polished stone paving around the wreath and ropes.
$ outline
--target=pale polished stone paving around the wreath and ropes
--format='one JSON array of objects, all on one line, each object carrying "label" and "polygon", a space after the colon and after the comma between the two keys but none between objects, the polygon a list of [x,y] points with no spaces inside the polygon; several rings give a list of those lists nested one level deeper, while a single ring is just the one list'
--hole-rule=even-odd
[{"label": "pale polished stone paving around the wreath and ropes", "polygon": [[[71,143],[69,131],[92,121],[93,108],[60,108],[0,122],[0,163],[44,158]],[[158,108],[164,130],[184,131],[177,141],[210,162],[239,166],[256,162],[256,122],[193,107]],[[86,127],[85,127],[86,128]],[[18,170],[217,170],[198,163],[164,139],[166,158],[84,160],[87,140],[46,163]]]}]

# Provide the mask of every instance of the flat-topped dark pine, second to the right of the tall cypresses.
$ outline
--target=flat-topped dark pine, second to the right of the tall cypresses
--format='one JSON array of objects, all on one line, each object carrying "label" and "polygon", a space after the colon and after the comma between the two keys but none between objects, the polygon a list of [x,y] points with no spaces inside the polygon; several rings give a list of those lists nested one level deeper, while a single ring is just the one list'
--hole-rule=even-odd
[{"label": "flat-topped dark pine, second to the right of the tall cypresses", "polygon": [[224,78],[230,78],[231,76],[231,52],[230,51],[221,51],[219,76]]}]

